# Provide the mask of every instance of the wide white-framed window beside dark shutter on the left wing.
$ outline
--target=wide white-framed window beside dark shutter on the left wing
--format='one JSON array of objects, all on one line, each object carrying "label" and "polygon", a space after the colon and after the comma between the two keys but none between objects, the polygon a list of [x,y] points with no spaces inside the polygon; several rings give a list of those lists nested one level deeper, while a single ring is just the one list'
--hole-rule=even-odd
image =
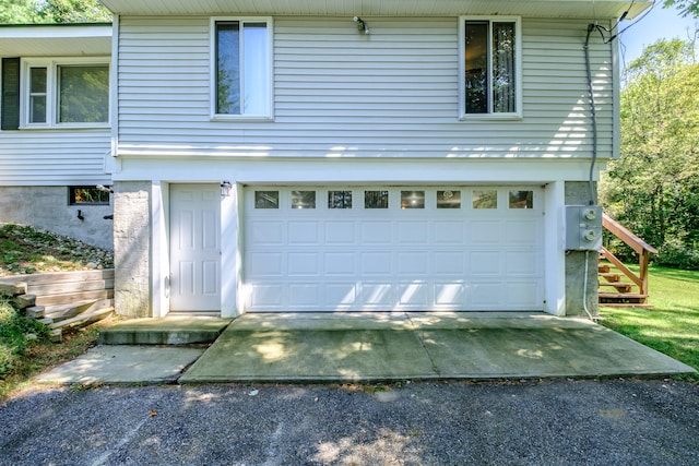
[{"label": "wide white-framed window beside dark shutter on the left wing", "polygon": [[21,127],[107,128],[109,63],[104,59],[24,59]]}]

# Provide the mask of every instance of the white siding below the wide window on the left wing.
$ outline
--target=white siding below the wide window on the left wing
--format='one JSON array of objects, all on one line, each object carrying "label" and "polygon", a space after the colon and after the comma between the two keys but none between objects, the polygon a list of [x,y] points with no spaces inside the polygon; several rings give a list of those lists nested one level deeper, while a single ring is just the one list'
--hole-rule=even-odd
[{"label": "white siding below the wide window on the left wing", "polygon": [[0,131],[0,186],[110,184],[109,130]]}]

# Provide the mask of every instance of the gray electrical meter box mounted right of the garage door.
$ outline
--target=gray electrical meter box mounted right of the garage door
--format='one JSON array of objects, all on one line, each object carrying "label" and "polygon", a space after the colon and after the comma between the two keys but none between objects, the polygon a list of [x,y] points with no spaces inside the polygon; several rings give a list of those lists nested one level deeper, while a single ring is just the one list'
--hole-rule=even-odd
[{"label": "gray electrical meter box mounted right of the garage door", "polygon": [[602,249],[602,206],[566,205],[566,250]]}]

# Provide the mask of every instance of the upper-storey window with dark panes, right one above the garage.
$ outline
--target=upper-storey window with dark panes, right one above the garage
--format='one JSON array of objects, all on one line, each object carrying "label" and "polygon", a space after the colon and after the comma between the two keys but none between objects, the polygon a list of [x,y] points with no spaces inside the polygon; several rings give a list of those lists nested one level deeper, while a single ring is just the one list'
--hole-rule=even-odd
[{"label": "upper-storey window with dark panes, right one above the garage", "polygon": [[522,40],[518,16],[459,19],[460,118],[522,116]]}]

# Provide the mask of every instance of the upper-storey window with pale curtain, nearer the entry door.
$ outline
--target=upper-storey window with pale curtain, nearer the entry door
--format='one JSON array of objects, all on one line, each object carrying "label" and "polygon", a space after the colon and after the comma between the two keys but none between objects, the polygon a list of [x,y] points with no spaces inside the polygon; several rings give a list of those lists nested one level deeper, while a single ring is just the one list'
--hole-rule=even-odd
[{"label": "upper-storey window with pale curtain, nearer the entry door", "polygon": [[273,118],[272,19],[211,21],[212,119]]}]

